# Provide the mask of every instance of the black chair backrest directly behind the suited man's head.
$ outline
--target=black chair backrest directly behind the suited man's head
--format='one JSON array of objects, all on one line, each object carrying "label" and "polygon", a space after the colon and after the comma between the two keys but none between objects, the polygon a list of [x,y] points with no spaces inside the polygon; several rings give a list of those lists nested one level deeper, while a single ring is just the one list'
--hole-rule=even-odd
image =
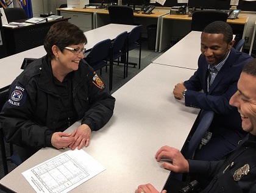
[{"label": "black chair backrest directly behind the suited man's head", "polygon": [[227,21],[227,13],[218,10],[199,10],[193,13],[191,30],[201,31],[213,21]]}]

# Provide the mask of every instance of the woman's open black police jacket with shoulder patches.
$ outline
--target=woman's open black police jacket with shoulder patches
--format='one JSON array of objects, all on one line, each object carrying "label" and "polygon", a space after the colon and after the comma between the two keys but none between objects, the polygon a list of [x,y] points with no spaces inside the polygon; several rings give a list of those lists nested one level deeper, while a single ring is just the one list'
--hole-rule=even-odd
[{"label": "woman's open black police jacket with shoulder patches", "polygon": [[[84,60],[73,72],[73,104],[82,124],[99,130],[112,117],[115,98]],[[7,141],[21,147],[40,149],[51,145],[51,137],[62,107],[54,85],[51,63],[44,56],[30,63],[10,86],[9,99],[0,121]],[[62,132],[66,128],[63,128]]]}]

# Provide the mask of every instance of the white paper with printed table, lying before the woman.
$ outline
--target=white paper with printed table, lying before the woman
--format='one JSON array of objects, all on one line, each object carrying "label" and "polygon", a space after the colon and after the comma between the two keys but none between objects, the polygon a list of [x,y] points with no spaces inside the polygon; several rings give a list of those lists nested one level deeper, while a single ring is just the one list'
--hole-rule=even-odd
[{"label": "white paper with printed table, lying before the woman", "polygon": [[68,150],[23,172],[36,192],[66,193],[98,175],[105,167],[84,150]]}]

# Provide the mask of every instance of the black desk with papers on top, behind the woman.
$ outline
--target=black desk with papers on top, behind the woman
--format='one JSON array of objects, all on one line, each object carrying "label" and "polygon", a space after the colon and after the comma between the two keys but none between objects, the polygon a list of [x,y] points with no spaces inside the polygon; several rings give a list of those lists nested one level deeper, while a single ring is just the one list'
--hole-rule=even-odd
[{"label": "black desk with papers on top, behind the woman", "polygon": [[68,21],[68,19],[69,18],[56,19],[46,23],[15,28],[3,27],[7,55],[17,54],[43,45],[44,37],[48,33],[50,27],[57,22]]}]

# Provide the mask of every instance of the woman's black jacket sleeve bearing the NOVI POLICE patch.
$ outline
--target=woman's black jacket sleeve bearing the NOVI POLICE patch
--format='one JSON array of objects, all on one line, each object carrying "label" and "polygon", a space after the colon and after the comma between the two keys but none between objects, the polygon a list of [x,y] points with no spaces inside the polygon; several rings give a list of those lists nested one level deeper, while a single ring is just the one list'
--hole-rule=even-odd
[{"label": "woman's black jacket sleeve bearing the NOVI POLICE patch", "polygon": [[34,122],[35,102],[21,83],[15,81],[10,86],[9,99],[0,113],[4,136],[7,141],[21,147],[51,146],[52,132]]}]

